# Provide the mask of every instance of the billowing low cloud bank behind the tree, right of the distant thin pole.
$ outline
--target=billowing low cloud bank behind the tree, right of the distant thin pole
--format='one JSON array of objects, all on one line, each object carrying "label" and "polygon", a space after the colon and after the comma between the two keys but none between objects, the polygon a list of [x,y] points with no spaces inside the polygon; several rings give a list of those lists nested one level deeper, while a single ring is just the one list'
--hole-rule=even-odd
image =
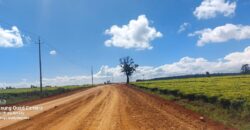
[{"label": "billowing low cloud bank behind the tree, right of the distant thin pole", "polygon": [[[203,74],[206,71],[210,73],[237,73],[243,64],[250,64],[250,46],[241,52],[233,52],[215,61],[209,61],[205,58],[183,57],[179,61],[165,64],[158,67],[139,66],[133,79],[156,78],[166,76],[178,76],[186,74]],[[115,77],[116,81],[125,81],[123,73],[120,72],[120,66],[109,67],[102,66],[96,73],[96,77]]]}]

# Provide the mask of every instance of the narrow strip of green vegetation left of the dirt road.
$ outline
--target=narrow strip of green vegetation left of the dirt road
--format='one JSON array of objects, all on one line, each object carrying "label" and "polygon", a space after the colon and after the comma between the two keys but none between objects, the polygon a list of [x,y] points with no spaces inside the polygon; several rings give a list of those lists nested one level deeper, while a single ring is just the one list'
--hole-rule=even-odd
[{"label": "narrow strip of green vegetation left of the dirt road", "polygon": [[[65,92],[70,92],[73,90],[87,88],[89,86],[63,86],[63,87],[44,87],[42,97],[48,97],[52,95],[57,95]],[[12,88],[12,89],[0,89],[0,99],[6,100],[6,105],[31,101],[39,99],[40,88]]]}]

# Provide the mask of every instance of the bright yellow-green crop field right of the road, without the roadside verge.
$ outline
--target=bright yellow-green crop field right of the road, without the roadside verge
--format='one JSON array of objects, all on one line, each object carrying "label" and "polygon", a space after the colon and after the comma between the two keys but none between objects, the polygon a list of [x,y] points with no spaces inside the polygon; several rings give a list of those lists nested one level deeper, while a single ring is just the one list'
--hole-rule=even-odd
[{"label": "bright yellow-green crop field right of the road, without the roadside verge", "polygon": [[249,75],[145,81],[133,84],[190,100],[220,103],[225,108],[250,107]]}]

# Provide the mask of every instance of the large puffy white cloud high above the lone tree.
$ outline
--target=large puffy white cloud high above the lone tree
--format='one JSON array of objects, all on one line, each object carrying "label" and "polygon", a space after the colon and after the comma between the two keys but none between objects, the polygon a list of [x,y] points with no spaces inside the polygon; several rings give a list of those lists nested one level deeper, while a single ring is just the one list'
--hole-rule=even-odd
[{"label": "large puffy white cloud high above the lone tree", "polygon": [[162,37],[154,27],[149,26],[149,20],[145,15],[140,15],[136,20],[130,20],[128,25],[119,27],[113,25],[105,31],[112,36],[105,41],[107,47],[135,48],[137,50],[152,49],[151,41]]}]

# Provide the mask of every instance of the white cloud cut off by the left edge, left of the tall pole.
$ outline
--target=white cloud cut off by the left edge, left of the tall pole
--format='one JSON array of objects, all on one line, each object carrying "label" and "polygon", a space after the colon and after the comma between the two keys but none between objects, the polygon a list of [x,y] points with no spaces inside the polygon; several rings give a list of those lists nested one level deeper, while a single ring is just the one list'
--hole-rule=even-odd
[{"label": "white cloud cut off by the left edge, left of the tall pole", "polygon": [[16,26],[10,30],[0,27],[0,47],[22,47],[23,40],[20,31]]}]

